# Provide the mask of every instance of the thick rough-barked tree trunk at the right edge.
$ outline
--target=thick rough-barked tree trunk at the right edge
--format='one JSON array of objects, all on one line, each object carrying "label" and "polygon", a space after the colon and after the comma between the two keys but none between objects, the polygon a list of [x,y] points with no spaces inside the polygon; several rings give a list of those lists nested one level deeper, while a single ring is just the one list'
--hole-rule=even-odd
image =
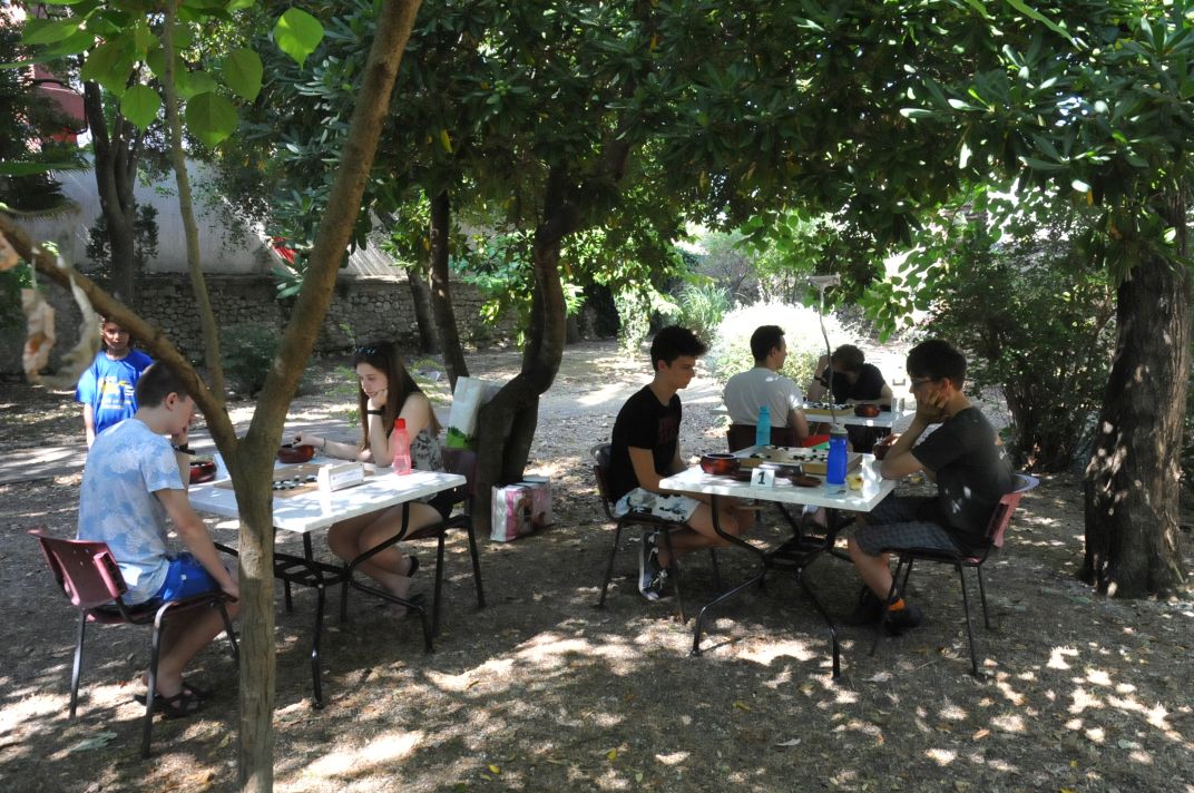
[{"label": "thick rough-barked tree trunk at the right edge", "polygon": [[[1167,216],[1187,251],[1184,207]],[[1184,578],[1177,506],[1189,375],[1190,287],[1181,264],[1150,258],[1118,294],[1119,337],[1084,481],[1084,582],[1122,597],[1173,594]]]}]

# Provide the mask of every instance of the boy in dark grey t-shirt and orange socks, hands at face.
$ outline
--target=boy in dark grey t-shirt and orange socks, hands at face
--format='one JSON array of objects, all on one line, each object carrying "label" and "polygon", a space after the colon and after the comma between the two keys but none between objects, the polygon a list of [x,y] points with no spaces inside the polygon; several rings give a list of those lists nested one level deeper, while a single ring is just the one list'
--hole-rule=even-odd
[{"label": "boy in dark grey t-shirt and orange socks, hands at face", "polygon": [[[912,425],[880,463],[884,479],[924,471],[937,482],[936,497],[891,496],[850,537],[850,559],[867,584],[851,621],[882,617],[892,576],[884,548],[941,548],[970,552],[986,543],[986,524],[1004,493],[1015,490],[1011,465],[998,434],[962,394],[966,358],[948,342],[933,339],[907,354],[910,389],[916,396]],[[930,424],[941,423],[919,445]],[[892,633],[915,628],[921,610],[897,594],[885,622]]]}]

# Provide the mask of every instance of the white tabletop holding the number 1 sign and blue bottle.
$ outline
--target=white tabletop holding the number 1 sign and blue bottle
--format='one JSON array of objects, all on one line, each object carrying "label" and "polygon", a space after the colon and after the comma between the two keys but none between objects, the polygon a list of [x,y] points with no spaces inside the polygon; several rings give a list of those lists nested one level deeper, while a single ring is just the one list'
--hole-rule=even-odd
[{"label": "white tabletop holding the number 1 sign and blue bottle", "polygon": [[[747,450],[744,449],[739,454]],[[884,479],[879,475],[879,461],[875,460],[874,455],[862,455],[862,462],[851,473],[862,474],[862,490],[850,490],[848,485],[826,485],[824,478],[819,478],[821,479],[821,484],[817,487],[798,487],[792,484],[782,484],[786,480],[780,480],[781,484],[765,487],[737,481],[728,477],[714,477],[713,474],[704,473],[698,467],[693,467],[682,473],[667,477],[659,482],[659,490],[678,493],[707,493],[710,496],[756,498],[767,502],[782,502],[784,504],[811,504],[829,509],[869,512],[896,488],[894,479]]]}]

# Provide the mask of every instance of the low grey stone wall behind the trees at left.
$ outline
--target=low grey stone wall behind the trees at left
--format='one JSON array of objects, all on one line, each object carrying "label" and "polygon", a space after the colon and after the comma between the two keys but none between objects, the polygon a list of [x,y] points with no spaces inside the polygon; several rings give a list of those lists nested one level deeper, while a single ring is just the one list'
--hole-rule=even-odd
[{"label": "low grey stone wall behind the trees at left", "polygon": [[[269,276],[209,275],[207,282],[211,308],[221,328],[260,322],[282,330],[294,311],[293,299],[275,299],[275,282]],[[79,309],[69,293],[56,285],[48,288],[47,297],[56,312],[59,340],[50,364],[57,365],[57,355],[70,349],[78,339]],[[137,313],[160,327],[184,355],[193,361],[203,358],[203,334],[186,275],[144,276],[137,284],[136,302]],[[504,318],[497,325],[486,324],[480,315],[482,302],[480,293],[473,287],[453,283],[453,305],[461,340],[474,348],[507,343],[515,333],[513,318]],[[19,332],[6,331],[2,337],[0,374],[19,373],[24,326]],[[406,278],[341,276],[315,340],[315,351],[339,354],[350,350],[355,343],[383,338],[398,342],[410,350],[411,356],[419,351],[418,324]]]}]

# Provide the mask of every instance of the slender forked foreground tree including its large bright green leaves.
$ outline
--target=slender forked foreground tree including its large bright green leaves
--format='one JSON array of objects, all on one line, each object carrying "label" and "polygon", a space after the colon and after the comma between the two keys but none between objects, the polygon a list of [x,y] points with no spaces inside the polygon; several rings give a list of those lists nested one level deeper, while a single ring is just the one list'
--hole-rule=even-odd
[{"label": "slender forked foreground tree including its large bright green leaves", "polygon": [[[50,50],[57,49],[54,54],[61,55],[63,48],[70,53],[82,51],[94,42],[97,33],[121,32],[123,33],[121,37],[105,42],[97,49],[97,51],[107,55],[97,59],[96,53],[92,53],[87,66],[91,67],[97,79],[117,86],[127,85],[134,67],[140,62],[139,57],[143,56],[147,60],[156,57],[154,53],[159,50],[153,42],[158,39],[148,35],[148,27],[150,24],[160,21],[161,17],[156,13],[144,14],[141,6],[124,6],[122,1],[117,0],[107,6],[87,6],[81,10],[84,13],[78,17],[43,20],[43,24],[35,26],[37,36],[42,37],[42,41],[38,41],[37,37],[31,39],[26,30],[26,42],[49,43],[51,44]],[[167,68],[162,69],[160,78],[166,84],[167,112],[172,112],[168,106],[173,104],[171,93],[178,88],[179,82],[195,86],[195,81],[202,81],[190,73],[184,76],[181,70],[177,74],[174,72],[173,66],[178,66],[178,63],[172,57],[171,51],[171,37],[176,32],[172,30],[173,25],[170,24],[172,14],[179,12],[179,19],[185,17],[186,19],[201,20],[205,13],[210,12],[216,17],[224,18],[239,5],[234,0],[229,8],[223,8],[211,6],[205,0],[198,0],[193,5],[187,1],[167,8],[166,33],[160,53],[164,62],[168,64]],[[332,299],[336,275],[356,222],[364,183],[376,150],[384,107],[418,5],[418,0],[390,0],[380,7],[370,45],[370,56],[367,67],[359,75],[359,86],[356,90],[356,111],[339,159],[338,176],[331,188],[331,198],[324,211],[324,222],[315,239],[310,266],[297,296],[293,319],[283,333],[282,346],[275,365],[270,368],[266,376],[258,410],[254,412],[248,432],[244,438],[238,438],[233,431],[232,423],[223,411],[222,394],[213,393],[167,339],[125,306],[113,300],[111,295],[98,289],[88,278],[69,268],[60,268],[55,258],[35,245],[18,226],[0,216],[0,230],[13,242],[21,257],[32,262],[41,272],[56,282],[63,285],[72,283],[79,285],[100,313],[128,327],[139,339],[144,342],[146,348],[159,361],[166,362],[184,377],[189,391],[207,417],[216,444],[228,462],[241,515],[239,559],[241,600],[244,602],[241,613],[244,652],[241,654],[240,686],[240,774],[241,786],[245,789],[269,789],[272,786],[271,720],[276,647],[272,598],[273,530],[269,480],[273,469],[273,455],[281,441],[287,406],[294,395],[319,330],[318,320],[326,314]],[[291,11],[281,16],[275,26],[275,38],[279,47],[301,62],[318,43],[319,31],[318,25],[310,25],[310,20],[296,16]],[[117,20],[123,24],[117,25]],[[85,21],[87,23],[86,29],[80,30]],[[128,39],[133,39],[133,42],[130,43]],[[69,42],[69,44],[63,42]],[[104,47],[107,49],[105,50]],[[135,49],[123,50],[121,48]],[[104,59],[110,56],[111,61],[104,63]],[[227,70],[229,63],[224,63],[224,74],[229,87],[234,91],[245,88],[245,85],[239,82],[244,74],[233,76],[235,72],[244,70],[241,59],[232,57],[229,54],[229,62],[234,63],[232,70]],[[85,72],[87,72],[87,66],[85,66]],[[122,109],[125,115],[149,123],[150,117],[155,116],[161,107],[160,99],[156,98],[156,94],[150,97],[144,91],[139,90],[140,85],[139,82],[128,86],[122,97]],[[219,91],[210,75],[208,75],[205,87],[209,90],[195,93],[187,103],[187,127],[191,133],[203,139],[209,146],[216,146],[222,137],[233,131],[235,113],[229,116],[229,113],[222,112],[227,106],[230,106],[227,99],[221,102],[217,96],[203,96],[215,94]],[[176,154],[180,140],[179,125],[177,118],[171,119],[170,127],[174,134]],[[176,156],[174,164],[178,162],[179,158]],[[177,176],[185,178],[181,173]]]}]

